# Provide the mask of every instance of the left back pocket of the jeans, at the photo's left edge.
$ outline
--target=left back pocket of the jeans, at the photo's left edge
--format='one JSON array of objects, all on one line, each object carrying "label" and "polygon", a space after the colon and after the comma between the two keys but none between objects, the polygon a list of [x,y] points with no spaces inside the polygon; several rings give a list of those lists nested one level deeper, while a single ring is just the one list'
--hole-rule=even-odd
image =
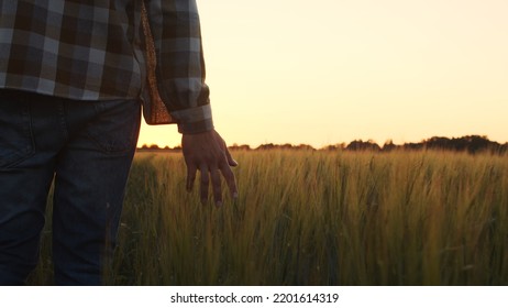
[{"label": "left back pocket of the jeans, at the photo's left edge", "polygon": [[0,92],[0,168],[14,167],[34,153],[29,103]]}]

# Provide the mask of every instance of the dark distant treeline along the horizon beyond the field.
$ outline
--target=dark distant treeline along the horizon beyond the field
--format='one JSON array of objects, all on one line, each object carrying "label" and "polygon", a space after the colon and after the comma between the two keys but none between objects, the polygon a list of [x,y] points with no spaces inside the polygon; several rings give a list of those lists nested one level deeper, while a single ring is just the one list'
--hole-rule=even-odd
[{"label": "dark distant treeline along the horizon beyond the field", "polygon": [[[461,138],[444,138],[444,136],[433,136],[427,140],[422,140],[418,143],[405,143],[405,144],[395,144],[391,140],[388,140],[379,146],[376,142],[368,140],[355,140],[351,143],[339,143],[333,145],[328,145],[322,148],[314,148],[308,144],[274,144],[267,143],[262,144],[257,147],[252,148],[247,144],[233,144],[229,147],[230,150],[239,151],[263,151],[263,150],[300,150],[300,151],[374,151],[374,152],[390,152],[394,150],[409,150],[409,151],[419,151],[419,150],[441,150],[441,151],[454,151],[454,152],[467,152],[471,154],[478,152],[488,152],[493,154],[504,154],[508,152],[508,142],[500,144],[495,141],[488,140],[487,136],[481,135],[466,135]],[[180,151],[180,146],[176,147],[164,147],[161,148],[158,145],[146,144],[141,147],[141,150],[166,150],[166,151]]]}]

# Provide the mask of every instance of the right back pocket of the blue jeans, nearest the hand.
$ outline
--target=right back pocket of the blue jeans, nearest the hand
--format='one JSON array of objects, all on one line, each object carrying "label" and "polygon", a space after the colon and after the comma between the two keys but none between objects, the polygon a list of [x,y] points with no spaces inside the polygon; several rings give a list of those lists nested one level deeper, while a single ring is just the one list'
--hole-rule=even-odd
[{"label": "right back pocket of the blue jeans, nearest the hand", "polygon": [[104,153],[131,152],[137,143],[141,105],[136,100],[98,101],[96,118],[86,129],[88,136]]}]

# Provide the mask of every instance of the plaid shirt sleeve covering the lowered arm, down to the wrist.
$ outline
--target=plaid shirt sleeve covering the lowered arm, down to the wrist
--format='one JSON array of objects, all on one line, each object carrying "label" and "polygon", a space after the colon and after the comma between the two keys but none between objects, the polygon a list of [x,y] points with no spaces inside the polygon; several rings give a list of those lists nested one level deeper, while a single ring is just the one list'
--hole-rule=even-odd
[{"label": "plaid shirt sleeve covering the lowered arm, down to the wrist", "polygon": [[212,130],[196,0],[145,0],[145,6],[155,47],[158,91],[178,131]]}]

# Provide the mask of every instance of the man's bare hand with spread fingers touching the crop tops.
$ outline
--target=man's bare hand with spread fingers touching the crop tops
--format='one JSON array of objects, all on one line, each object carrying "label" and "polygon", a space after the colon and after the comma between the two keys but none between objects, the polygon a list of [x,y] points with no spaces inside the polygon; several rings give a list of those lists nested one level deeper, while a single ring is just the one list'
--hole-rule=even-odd
[{"label": "man's bare hand with spread fingers touching the crop tops", "polygon": [[217,131],[212,130],[198,134],[184,134],[181,136],[181,148],[187,165],[187,191],[192,190],[196,173],[199,169],[201,174],[201,202],[205,204],[208,200],[208,190],[211,179],[216,205],[222,205],[220,173],[222,173],[228,184],[231,196],[238,198],[236,182],[231,170],[231,167],[238,166],[238,163],[231,157],[224,140]]}]

